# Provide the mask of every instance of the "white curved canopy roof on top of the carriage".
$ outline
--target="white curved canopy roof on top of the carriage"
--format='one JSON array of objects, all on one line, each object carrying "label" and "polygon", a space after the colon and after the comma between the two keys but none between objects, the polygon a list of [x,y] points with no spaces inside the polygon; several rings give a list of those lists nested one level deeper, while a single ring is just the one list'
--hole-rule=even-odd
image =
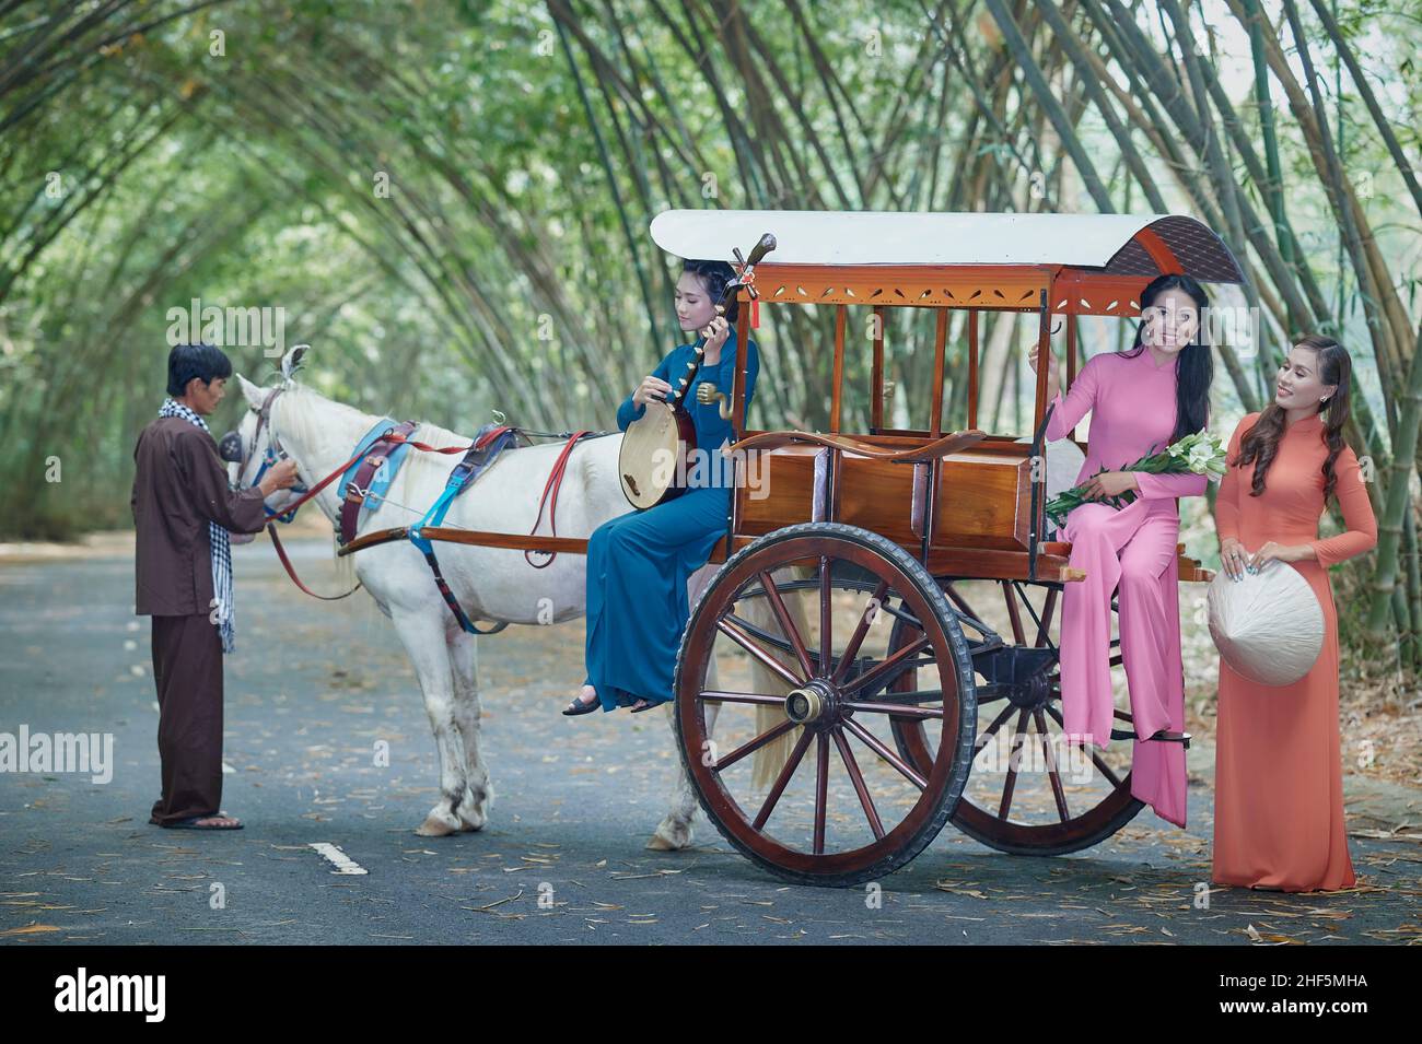
[{"label": "white curved canopy roof on top of the carriage", "polygon": [[[1203,223],[1185,214],[997,214],[889,210],[665,210],[651,237],[677,257],[732,261],[769,232],[766,264],[1066,264],[1156,276],[1132,239],[1150,227],[1200,280],[1237,283],[1239,264]],[[1112,261],[1116,261],[1112,264]]]}]

